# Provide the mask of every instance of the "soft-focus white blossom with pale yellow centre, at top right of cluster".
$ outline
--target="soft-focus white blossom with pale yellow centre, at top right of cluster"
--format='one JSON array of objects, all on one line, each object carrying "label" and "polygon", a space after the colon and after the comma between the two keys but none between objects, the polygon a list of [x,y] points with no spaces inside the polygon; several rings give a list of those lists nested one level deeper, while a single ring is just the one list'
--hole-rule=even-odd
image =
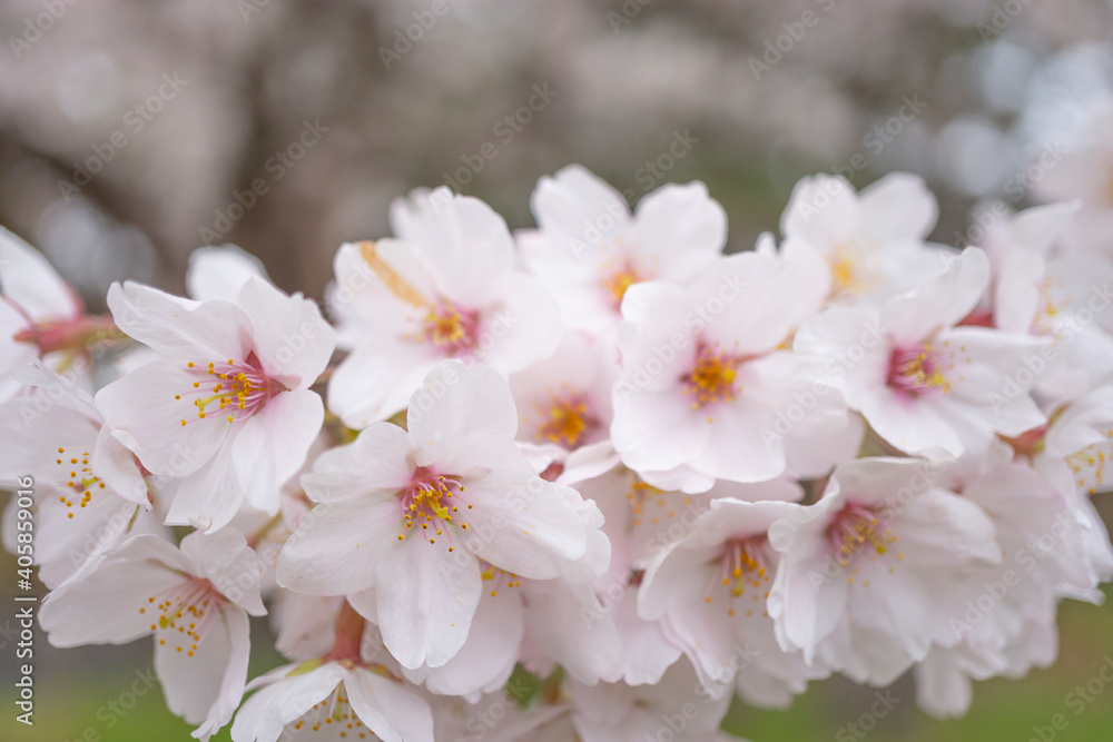
[{"label": "soft-focus white blossom with pale yellow centre, at top right of cluster", "polygon": [[856,194],[845,178],[816,175],[792,189],[781,251],[829,276],[833,304],[876,303],[942,269],[942,247],[924,243],[937,215],[918,176],[894,172]]}]

